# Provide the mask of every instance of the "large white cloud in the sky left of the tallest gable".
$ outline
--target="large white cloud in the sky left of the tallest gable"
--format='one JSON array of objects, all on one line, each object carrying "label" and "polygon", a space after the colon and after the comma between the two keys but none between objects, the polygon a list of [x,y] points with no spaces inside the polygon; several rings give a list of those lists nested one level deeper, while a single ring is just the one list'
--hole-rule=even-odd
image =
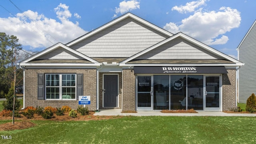
[{"label": "large white cloud in the sky left of the tallest gable", "polygon": [[22,13],[16,14],[16,17],[0,18],[0,32],[17,36],[20,44],[31,49],[49,47],[57,42],[65,44],[86,33],[78,22],[68,20],[72,14],[66,4],[60,4],[54,10],[60,22],[27,10],[24,14],[32,20]]}]

